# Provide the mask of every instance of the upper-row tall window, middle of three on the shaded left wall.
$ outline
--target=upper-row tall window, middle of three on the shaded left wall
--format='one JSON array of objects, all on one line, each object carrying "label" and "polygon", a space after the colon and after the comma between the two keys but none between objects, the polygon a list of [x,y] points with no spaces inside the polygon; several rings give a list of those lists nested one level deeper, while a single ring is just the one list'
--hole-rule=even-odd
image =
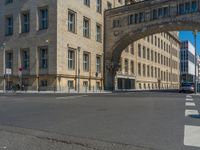
[{"label": "upper-row tall window, middle of three on the shaded left wall", "polygon": [[30,15],[29,12],[23,12],[21,14],[21,32],[27,33],[30,30]]}]

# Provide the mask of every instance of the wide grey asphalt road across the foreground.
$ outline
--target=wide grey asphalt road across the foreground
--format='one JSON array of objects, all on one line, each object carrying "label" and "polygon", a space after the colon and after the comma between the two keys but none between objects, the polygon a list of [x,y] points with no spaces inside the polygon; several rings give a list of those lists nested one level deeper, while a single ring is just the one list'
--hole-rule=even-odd
[{"label": "wide grey asphalt road across the foreground", "polygon": [[199,112],[179,93],[1,94],[0,150],[199,150]]}]

